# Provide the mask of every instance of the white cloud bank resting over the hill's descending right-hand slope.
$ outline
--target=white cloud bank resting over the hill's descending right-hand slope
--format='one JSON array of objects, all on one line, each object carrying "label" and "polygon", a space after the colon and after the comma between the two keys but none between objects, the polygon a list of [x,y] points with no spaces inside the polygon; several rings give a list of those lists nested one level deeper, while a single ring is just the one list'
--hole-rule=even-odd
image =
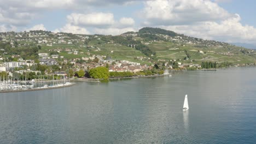
[{"label": "white cloud bank resting over the hill's descending right-hand slope", "polygon": [[206,21],[194,25],[160,26],[177,33],[193,37],[226,41],[228,43],[255,43],[256,28],[240,23],[240,16],[231,17],[221,22]]}]

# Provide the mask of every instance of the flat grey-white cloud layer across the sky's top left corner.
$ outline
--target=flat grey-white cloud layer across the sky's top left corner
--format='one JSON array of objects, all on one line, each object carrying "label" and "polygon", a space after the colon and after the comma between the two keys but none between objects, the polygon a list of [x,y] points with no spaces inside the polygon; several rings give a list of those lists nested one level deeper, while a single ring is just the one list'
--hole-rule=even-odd
[{"label": "flat grey-white cloud layer across the sky's top left corner", "polygon": [[0,0],[0,24],[24,27],[45,10],[85,10],[142,0]]}]

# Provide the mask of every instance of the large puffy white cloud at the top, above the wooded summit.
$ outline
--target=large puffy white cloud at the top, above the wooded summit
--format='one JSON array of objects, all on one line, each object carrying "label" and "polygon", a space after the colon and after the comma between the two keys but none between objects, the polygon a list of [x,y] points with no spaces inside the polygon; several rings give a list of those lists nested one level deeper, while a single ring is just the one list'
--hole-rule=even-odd
[{"label": "large puffy white cloud at the top, above the wooded summit", "polygon": [[234,14],[207,0],[156,0],[144,3],[145,25],[187,25],[202,21],[225,20]]}]

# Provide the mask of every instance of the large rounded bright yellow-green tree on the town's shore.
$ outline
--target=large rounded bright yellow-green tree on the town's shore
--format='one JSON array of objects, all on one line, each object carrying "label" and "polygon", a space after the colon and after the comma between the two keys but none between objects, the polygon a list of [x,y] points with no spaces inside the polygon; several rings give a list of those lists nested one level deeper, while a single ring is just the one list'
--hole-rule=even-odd
[{"label": "large rounded bright yellow-green tree on the town's shore", "polygon": [[108,79],[109,72],[106,67],[97,67],[89,71],[89,75],[94,79]]}]

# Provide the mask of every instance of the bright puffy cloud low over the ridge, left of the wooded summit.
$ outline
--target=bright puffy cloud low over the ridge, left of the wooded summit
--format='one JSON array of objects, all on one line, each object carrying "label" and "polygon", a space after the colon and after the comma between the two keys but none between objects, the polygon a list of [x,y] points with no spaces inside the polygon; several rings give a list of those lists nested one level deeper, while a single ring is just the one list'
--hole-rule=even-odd
[{"label": "bright puffy cloud low over the ridge, left of the wooded summit", "polygon": [[[60,28],[59,31],[78,33],[79,31],[82,31],[82,27],[91,27],[94,29],[94,33],[97,34],[118,35],[127,31],[135,31],[135,29],[132,28],[134,25],[135,21],[131,17],[121,17],[120,20],[115,20],[114,14],[112,13],[73,13],[67,16],[66,27],[68,28],[63,27]],[[80,28],[80,30],[73,31],[75,28]],[[67,29],[72,29],[72,31],[67,31]],[[83,30],[83,33],[80,34],[89,34],[86,29]]]}]

